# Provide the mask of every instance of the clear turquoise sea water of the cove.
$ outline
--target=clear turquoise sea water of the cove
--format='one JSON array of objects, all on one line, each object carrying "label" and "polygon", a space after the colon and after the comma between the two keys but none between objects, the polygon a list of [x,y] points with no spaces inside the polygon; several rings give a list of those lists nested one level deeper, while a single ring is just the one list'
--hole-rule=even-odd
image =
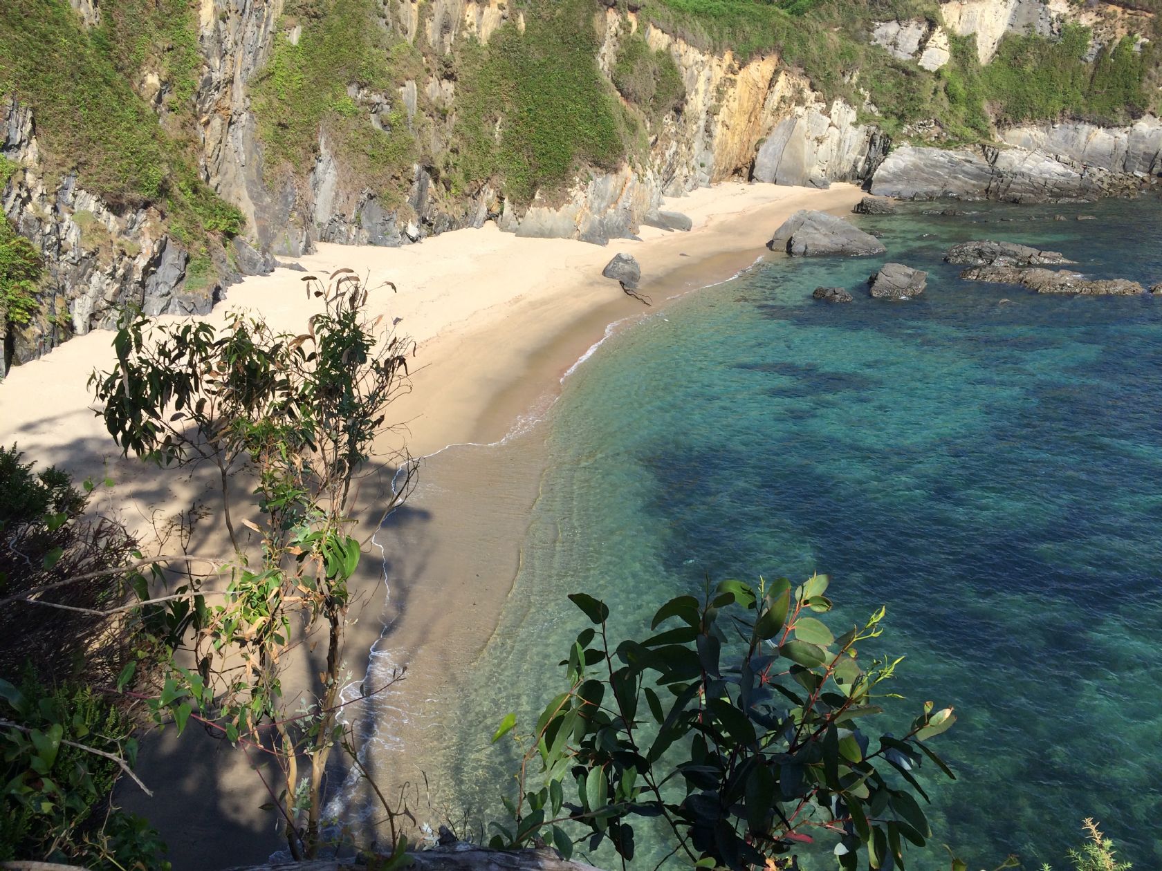
[{"label": "clear turquoise sea water of the cove", "polygon": [[[450,714],[445,804],[497,815],[510,760],[490,726],[562,689],[583,620],[566,593],[639,632],[706,574],[826,571],[837,624],[887,605],[903,714],[959,712],[940,739],[959,780],[932,782],[935,848],[912,866],[947,868],[947,843],[974,869],[1063,868],[1092,815],[1162,868],[1162,298],[1041,297],[940,262],[1000,238],[1150,285],[1162,203],[863,226],[931,273],[923,297],[867,297],[873,260],[779,260],[615,333],[566,380],[511,604]],[[817,285],[855,302],[815,302]]]}]

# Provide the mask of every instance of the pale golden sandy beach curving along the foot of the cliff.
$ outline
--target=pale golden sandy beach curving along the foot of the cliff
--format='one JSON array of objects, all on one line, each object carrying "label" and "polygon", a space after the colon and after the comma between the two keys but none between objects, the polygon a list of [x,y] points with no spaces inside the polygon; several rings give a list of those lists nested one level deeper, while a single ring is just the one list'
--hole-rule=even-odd
[{"label": "pale golden sandy beach curving along the foot of the cliff", "polygon": [[[516,238],[492,223],[401,249],[320,245],[299,261],[307,273],[280,268],[246,279],[206,319],[222,323],[230,309],[246,309],[275,330],[303,332],[317,310],[303,290],[304,275],[324,276],[340,267],[366,275],[371,314],[397,319],[397,331],[417,343],[413,393],[392,411],[406,424],[410,454],[429,456],[449,445],[500,441],[523,416],[552,402],[561,375],[610,323],[652,310],[601,276],[615,253],[637,258],[643,293],[660,307],[753,262],[792,211],[842,214],[861,195],[848,185],[827,190],[744,183],[703,188],[666,203],[690,216],[690,232],[643,228],[640,240],[608,247]],[[397,291],[380,287],[385,281]],[[116,487],[102,497],[108,499],[103,508],[119,510],[148,545],[155,530],[193,503],[205,502],[210,511],[216,503],[208,474],[159,472],[120,456],[91,410],[86,386],[94,368],[112,365],[110,337],[78,337],[14,368],[0,383],[0,444],[15,441],[27,459],[60,465],[80,478],[110,474]],[[352,679],[361,681],[374,645],[376,672],[407,667],[407,679],[378,701],[374,714],[381,729],[392,730],[397,748],[413,747],[411,736],[424,722],[383,720],[392,711],[418,711],[435,698],[442,679],[479,655],[497,622],[537,496],[540,438],[532,432],[511,440],[509,447],[518,449],[462,448],[423,463],[415,504],[401,510],[365,555],[346,663]],[[396,437],[387,437],[385,449],[395,446]],[[379,519],[375,509],[389,477],[385,470],[364,488],[364,534]],[[227,555],[213,514],[198,523],[192,549]],[[406,755],[401,751],[399,758]],[[200,858],[203,851],[228,864],[260,861],[279,842],[273,818],[258,809],[268,798],[249,768],[228,746],[194,732],[175,740],[167,730],[146,743],[139,766],[146,783],[158,787],[158,798],[148,800],[127,789],[120,798],[162,829],[178,871],[215,866]],[[394,763],[373,773],[389,787],[414,776],[395,770]]]}]

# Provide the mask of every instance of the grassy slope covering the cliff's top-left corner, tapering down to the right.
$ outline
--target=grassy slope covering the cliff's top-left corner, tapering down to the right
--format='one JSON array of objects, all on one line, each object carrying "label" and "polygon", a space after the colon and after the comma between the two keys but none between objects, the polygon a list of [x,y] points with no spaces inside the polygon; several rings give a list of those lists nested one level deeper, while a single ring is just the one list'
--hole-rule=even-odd
[{"label": "grassy slope covering the cliff's top-left corner, tapering down to the right", "polygon": [[[181,44],[188,49],[194,44],[194,20],[184,14],[189,3],[162,2],[173,5],[166,7],[173,15],[167,26],[186,34]],[[159,35],[125,12],[137,5],[141,0],[102,2],[106,23],[89,31],[66,0],[8,0],[0,16],[0,98],[15,96],[33,109],[50,183],[53,173],[76,172],[81,187],[114,208],[158,206],[189,238],[235,235],[242,214],[201,181],[192,143],[166,134],[129,85],[135,64],[163,45],[172,56],[166,63],[185,70],[173,73],[175,80],[188,85],[193,75],[188,51],[175,48],[173,34]],[[139,28],[136,38],[120,29],[122,20]],[[136,53],[121,53],[130,49]],[[178,56],[186,59],[179,64]]]}]

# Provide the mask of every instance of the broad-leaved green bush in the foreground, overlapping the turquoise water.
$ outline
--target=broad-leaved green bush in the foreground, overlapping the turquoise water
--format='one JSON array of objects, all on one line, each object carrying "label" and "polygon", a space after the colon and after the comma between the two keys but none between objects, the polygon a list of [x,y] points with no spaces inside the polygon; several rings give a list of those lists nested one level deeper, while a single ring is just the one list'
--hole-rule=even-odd
[{"label": "broad-leaved green bush in the foreground, overlapping the turquoise water", "polygon": [[[611,642],[609,607],[569,598],[591,626],[561,663],[567,686],[529,732],[509,714],[493,741],[521,748],[511,820],[492,845],[537,840],[566,856],[588,841],[634,855],[634,823],[660,818],[673,854],[697,868],[790,869],[794,852],[834,842],[840,868],[904,868],[904,842],[931,836],[914,796],[927,741],[955,721],[927,701],[898,737],[869,726],[892,698],[896,660],[860,658],[884,611],[838,638],[827,578],[754,589],[724,581],[662,605],[644,640]],[[873,730],[875,729],[875,730]],[[544,783],[531,787],[539,769]],[[672,855],[673,855],[672,854]]]}]

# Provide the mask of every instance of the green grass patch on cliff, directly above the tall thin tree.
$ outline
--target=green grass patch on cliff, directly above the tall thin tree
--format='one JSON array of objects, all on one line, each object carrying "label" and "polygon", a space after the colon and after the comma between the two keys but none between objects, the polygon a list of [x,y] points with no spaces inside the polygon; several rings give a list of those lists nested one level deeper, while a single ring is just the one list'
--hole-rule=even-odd
[{"label": "green grass patch on cliff, directly above the tall thin tree", "polygon": [[[267,165],[309,172],[322,131],[346,172],[399,202],[417,147],[397,88],[422,80],[418,51],[381,27],[374,0],[288,2],[279,26],[284,33],[251,91]],[[302,30],[292,43],[286,31],[295,26]],[[382,130],[372,124],[368,101],[360,105],[349,86],[386,99]]]}]

